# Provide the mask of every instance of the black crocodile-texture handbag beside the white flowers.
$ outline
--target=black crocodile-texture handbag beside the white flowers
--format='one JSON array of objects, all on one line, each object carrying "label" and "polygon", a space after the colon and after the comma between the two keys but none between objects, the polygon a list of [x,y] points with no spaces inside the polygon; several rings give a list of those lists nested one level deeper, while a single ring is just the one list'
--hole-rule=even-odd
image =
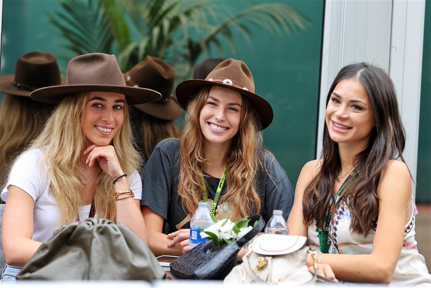
[{"label": "black crocodile-texture handbag beside the white flowers", "polygon": [[260,215],[249,217],[249,223],[257,224],[240,239],[220,248],[207,240],[170,264],[170,272],[178,279],[224,279],[236,265],[236,254],[265,226]]}]

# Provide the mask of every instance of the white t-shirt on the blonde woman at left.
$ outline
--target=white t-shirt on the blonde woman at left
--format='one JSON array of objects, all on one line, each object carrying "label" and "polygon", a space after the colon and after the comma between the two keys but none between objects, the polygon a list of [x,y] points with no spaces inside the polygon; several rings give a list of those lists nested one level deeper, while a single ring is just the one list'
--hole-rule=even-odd
[{"label": "white t-shirt on the blonde woman at left", "polygon": [[[47,168],[42,167],[41,161],[44,155],[42,149],[32,149],[24,152],[18,157],[12,167],[9,179],[0,197],[7,201],[8,188],[10,185],[23,189],[34,200],[33,210],[33,237],[39,242],[45,242],[59,228],[60,210],[57,202],[49,191],[50,179],[48,179]],[[130,189],[135,199],[141,199],[142,182],[139,173],[134,171],[127,177]],[[80,207],[79,218],[88,218],[91,205]],[[96,215],[97,217],[97,212]]]}]

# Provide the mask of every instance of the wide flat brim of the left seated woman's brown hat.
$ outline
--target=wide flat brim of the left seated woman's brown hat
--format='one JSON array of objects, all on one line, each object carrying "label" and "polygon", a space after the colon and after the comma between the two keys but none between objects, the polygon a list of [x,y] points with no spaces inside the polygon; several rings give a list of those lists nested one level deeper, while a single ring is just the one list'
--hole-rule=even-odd
[{"label": "wide flat brim of the left seated woman's brown hat", "polygon": [[126,96],[129,105],[150,103],[162,98],[162,95],[147,88],[115,85],[61,85],[40,88],[30,93],[30,98],[48,104],[57,104],[67,95],[79,92],[114,92]]}]

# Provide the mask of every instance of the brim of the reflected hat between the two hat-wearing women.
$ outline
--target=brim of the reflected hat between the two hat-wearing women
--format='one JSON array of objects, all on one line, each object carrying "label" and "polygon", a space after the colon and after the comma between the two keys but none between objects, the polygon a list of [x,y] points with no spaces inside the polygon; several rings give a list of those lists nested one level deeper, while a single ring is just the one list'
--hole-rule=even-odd
[{"label": "brim of the reflected hat between the two hat-wearing women", "polygon": [[183,115],[183,108],[179,106],[179,103],[172,95],[166,103],[153,102],[138,104],[135,107],[142,112],[163,120],[176,120]]}]

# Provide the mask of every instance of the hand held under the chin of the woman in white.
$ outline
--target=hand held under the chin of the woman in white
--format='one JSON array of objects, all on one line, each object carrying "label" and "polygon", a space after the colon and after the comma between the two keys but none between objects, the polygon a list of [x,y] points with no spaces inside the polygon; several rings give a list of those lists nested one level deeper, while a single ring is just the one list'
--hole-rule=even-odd
[{"label": "hand held under the chin of the woman in white", "polygon": [[89,167],[94,165],[94,161],[100,165],[100,168],[108,174],[112,179],[124,174],[118,161],[117,153],[112,145],[97,146],[91,145],[84,151],[84,155],[88,153],[85,164]]}]

